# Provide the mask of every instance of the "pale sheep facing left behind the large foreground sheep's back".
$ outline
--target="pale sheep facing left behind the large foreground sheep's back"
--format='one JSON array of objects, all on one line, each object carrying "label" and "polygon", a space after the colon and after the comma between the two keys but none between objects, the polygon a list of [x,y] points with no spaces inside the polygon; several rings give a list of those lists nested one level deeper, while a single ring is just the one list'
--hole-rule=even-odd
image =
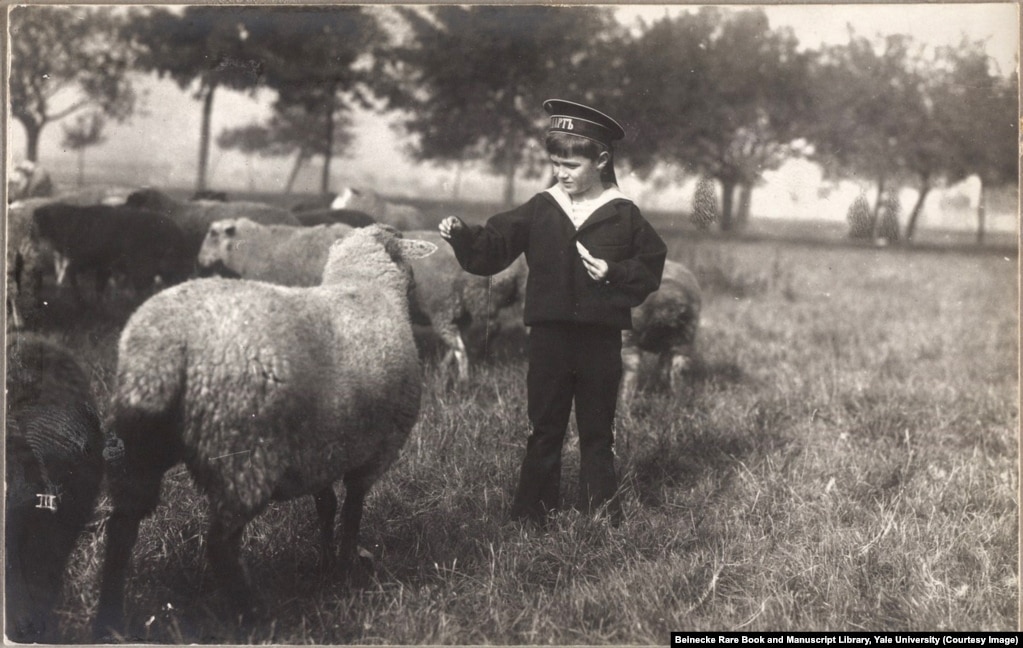
[{"label": "pale sheep facing left behind the large foreground sheep's back", "polygon": [[240,277],[281,286],[316,286],[330,245],[348,225],[261,225],[248,218],[218,220],[198,252],[202,275]]}]

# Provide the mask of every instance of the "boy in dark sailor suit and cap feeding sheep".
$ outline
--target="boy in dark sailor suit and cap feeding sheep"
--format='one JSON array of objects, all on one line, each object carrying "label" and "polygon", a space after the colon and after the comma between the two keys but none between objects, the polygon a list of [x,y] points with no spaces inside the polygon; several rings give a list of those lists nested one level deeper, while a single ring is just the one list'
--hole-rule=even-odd
[{"label": "boy in dark sailor suit and cap feeding sheep", "polygon": [[578,508],[616,498],[614,421],[622,336],[631,308],[657,290],[666,248],[618,188],[612,142],[625,131],[586,105],[548,99],[546,147],[557,182],[526,204],[470,226],[440,223],[462,268],[489,275],[526,255],[528,415],[532,426],[511,504],[513,519],[542,524],[558,509],[562,445],[573,400],[579,428]]}]

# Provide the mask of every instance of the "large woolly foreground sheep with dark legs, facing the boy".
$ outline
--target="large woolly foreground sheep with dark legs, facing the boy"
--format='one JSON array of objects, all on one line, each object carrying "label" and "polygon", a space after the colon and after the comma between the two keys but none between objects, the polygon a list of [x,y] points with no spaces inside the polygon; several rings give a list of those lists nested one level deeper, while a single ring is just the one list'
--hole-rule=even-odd
[{"label": "large woolly foreground sheep with dark legs, facing the boy", "polygon": [[330,563],[342,479],[341,559],[353,565],[366,492],[418,417],[407,259],[435,249],[372,225],[330,247],[320,286],[195,279],[139,307],[118,347],[110,406],[124,458],[109,479],[98,634],[123,624],[139,523],[178,462],[207,493],[207,558],[243,611],[260,606],[241,535],[271,501],[314,495]]}]

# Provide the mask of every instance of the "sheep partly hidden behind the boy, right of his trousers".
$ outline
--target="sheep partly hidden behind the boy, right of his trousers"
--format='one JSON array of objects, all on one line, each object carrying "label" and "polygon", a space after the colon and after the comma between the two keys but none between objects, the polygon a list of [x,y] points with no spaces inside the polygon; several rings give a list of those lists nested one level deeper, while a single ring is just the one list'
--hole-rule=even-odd
[{"label": "sheep partly hidden behind the boy, right of his trousers", "polygon": [[664,263],[661,288],[632,309],[632,330],[622,333],[622,401],[636,390],[641,351],[656,353],[660,375],[667,372],[672,391],[695,359],[700,326],[700,284],[690,270],[670,259]]}]

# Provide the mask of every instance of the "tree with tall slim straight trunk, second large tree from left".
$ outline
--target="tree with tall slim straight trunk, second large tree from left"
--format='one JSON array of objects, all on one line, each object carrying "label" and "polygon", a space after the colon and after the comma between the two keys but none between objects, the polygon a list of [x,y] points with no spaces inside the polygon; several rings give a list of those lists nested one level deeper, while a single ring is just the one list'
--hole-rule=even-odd
[{"label": "tree with tall slim straight trunk, second large tree from left", "polygon": [[206,188],[217,89],[251,89],[261,80],[262,61],[247,51],[244,24],[246,16],[263,10],[215,5],[149,8],[133,11],[125,29],[126,37],[139,49],[139,67],[161,78],[170,77],[182,89],[192,88],[194,98],[202,101],[197,191]]}]

